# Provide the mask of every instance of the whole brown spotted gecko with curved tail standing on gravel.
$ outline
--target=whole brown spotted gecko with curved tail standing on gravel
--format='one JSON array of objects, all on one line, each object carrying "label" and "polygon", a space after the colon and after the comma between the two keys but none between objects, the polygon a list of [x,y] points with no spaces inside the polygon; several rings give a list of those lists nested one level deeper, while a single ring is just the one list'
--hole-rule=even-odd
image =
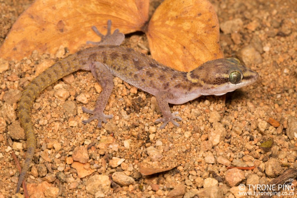
[{"label": "whole brown spotted gecko with curved tail standing on gravel", "polygon": [[20,190],[36,147],[30,113],[32,104],[41,91],[72,72],[80,69],[91,71],[102,87],[94,110],[82,107],[84,112],[92,114],[82,122],[86,124],[97,119],[97,127],[101,127],[102,122],[106,123],[106,119],[113,117],[103,113],[112,93],[113,76],[156,97],[163,116],[155,121],[163,122],[160,129],[164,129],[168,122],[179,126],[175,119],[181,121],[178,112],[171,113],[168,103],[183,104],[202,95],[223,95],[254,83],[258,78],[257,72],[241,64],[237,58],[211,60],[190,72],[178,71],[143,53],[120,46],[125,36],[119,29],[111,34],[110,20],[106,35],[101,34],[95,26],[92,29],[101,37],[100,42],[88,41],[87,43],[95,46],[60,59],[34,78],[22,92],[18,102],[18,116],[27,136],[28,147],[16,192]]}]

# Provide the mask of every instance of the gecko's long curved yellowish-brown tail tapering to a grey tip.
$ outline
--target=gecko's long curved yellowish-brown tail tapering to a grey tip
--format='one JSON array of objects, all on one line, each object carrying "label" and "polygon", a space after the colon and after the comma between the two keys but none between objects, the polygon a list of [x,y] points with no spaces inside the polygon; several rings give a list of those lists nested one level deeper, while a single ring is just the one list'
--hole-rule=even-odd
[{"label": "gecko's long curved yellowish-brown tail tapering to a grey tip", "polygon": [[62,77],[81,69],[78,55],[73,54],[64,59],[59,60],[56,64],[50,66],[39,76],[34,78],[31,83],[24,89],[20,101],[18,103],[18,115],[21,126],[23,127],[27,136],[27,153],[26,159],[23,163],[22,171],[20,172],[17,189],[18,193],[20,186],[25,178],[25,175],[30,167],[36,148],[36,138],[34,134],[34,127],[31,121],[31,107],[35,98],[46,87],[53,84]]}]

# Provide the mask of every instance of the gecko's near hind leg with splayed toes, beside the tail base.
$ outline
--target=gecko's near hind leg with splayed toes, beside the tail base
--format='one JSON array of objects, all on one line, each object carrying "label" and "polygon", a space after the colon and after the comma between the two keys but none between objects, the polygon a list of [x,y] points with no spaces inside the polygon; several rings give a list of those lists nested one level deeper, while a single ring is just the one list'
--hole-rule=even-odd
[{"label": "gecko's near hind leg with splayed toes, beside the tail base", "polygon": [[109,69],[100,62],[91,64],[90,70],[97,82],[101,85],[103,91],[97,98],[94,110],[89,110],[86,107],[82,107],[82,110],[86,113],[93,114],[88,120],[83,120],[84,124],[91,122],[94,119],[98,120],[97,127],[102,127],[102,122],[106,123],[106,118],[112,118],[113,115],[105,115],[103,110],[108,102],[112,88],[113,88],[113,75]]}]

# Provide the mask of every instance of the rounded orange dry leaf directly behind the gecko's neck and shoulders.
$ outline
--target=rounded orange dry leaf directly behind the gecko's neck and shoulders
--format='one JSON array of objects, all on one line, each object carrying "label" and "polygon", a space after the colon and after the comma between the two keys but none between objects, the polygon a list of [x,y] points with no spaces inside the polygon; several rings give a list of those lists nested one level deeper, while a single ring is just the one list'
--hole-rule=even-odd
[{"label": "rounded orange dry leaf directly behind the gecko's neck and shoulders", "polygon": [[207,0],[165,0],[149,22],[147,37],[153,58],[181,71],[223,58],[219,21]]}]

